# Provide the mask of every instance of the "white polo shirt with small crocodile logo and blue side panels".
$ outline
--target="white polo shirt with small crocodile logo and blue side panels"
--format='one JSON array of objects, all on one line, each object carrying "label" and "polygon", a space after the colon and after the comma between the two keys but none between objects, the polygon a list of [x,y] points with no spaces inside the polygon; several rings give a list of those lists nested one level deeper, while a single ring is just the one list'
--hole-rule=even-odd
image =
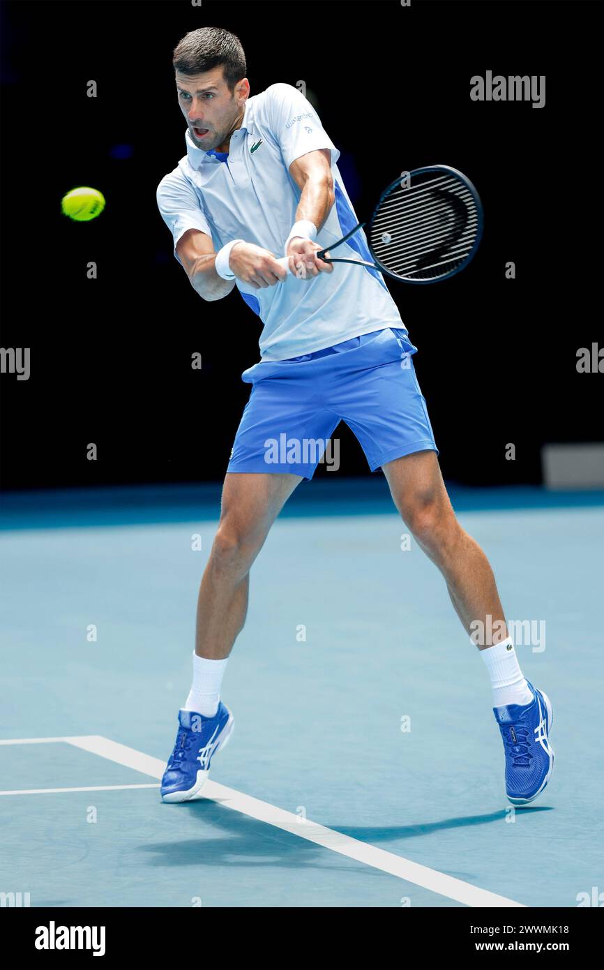
[{"label": "white polo shirt with small crocodile logo and blue side panels", "polygon": [[[157,187],[157,205],[175,245],[187,229],[201,229],[216,252],[243,239],[283,256],[301,197],[289,166],[317,148],[332,152],[335,203],[316,242],[329,247],[359,221],[337,169],[339,151],[292,84],[271,84],[247,99],[228,153],[198,148],[188,128],[185,143],[186,155]],[[371,261],[363,230],[339,245],[335,256]],[[383,275],[371,268],[336,263],[333,273],[311,280],[288,273],[285,282],[257,290],[237,277],[236,285],[264,325],[262,360],[298,357],[385,327],[406,329]]]}]

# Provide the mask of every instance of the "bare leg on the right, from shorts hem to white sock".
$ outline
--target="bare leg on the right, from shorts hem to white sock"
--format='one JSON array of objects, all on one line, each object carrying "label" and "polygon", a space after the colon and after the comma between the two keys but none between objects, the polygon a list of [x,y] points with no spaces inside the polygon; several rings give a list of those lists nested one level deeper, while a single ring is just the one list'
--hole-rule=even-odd
[{"label": "bare leg on the right, from shorts hem to white sock", "polygon": [[[507,627],[493,569],[478,543],[461,529],[436,453],[417,451],[405,455],[388,462],[383,471],[405,524],[443,574],[468,636],[476,630],[470,624],[480,621],[486,632],[486,642],[480,642],[481,650],[504,640]],[[487,617],[491,617],[491,623]]]}]

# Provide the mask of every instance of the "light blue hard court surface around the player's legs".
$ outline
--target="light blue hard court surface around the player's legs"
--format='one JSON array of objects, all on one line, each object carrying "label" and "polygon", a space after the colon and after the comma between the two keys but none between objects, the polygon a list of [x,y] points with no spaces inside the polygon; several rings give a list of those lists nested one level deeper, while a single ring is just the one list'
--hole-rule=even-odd
[{"label": "light blue hard court surface around the player's legs", "polygon": [[602,891],[604,495],[451,496],[554,704],[552,780],[515,816],[485,666],[436,568],[401,549],[381,474],[303,483],[275,524],[223,685],[235,734],[184,805],[159,779],[219,489],[5,498],[0,891],[397,908]]}]

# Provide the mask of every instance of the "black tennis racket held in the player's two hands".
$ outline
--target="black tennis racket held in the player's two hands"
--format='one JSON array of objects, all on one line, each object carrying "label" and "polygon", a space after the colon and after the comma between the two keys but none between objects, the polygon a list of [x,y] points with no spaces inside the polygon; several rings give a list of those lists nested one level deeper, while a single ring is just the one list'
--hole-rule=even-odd
[{"label": "black tennis racket held in the player's two hands", "polygon": [[[327,256],[366,226],[372,263]],[[416,169],[382,192],[368,222],[360,222],[315,256],[326,263],[368,266],[405,283],[436,283],[460,273],[483,231],[483,207],[469,178],[448,165]],[[289,259],[277,260],[285,269]]]}]

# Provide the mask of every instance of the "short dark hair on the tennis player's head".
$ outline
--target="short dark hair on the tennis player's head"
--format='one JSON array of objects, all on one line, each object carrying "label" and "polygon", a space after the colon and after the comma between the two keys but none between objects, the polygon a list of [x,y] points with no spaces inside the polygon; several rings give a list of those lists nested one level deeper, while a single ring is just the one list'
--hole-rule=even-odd
[{"label": "short dark hair on the tennis player's head", "polygon": [[204,74],[222,64],[222,76],[231,94],[245,77],[247,66],[241,42],[222,27],[199,27],[185,34],[175,47],[172,64],[180,74]]}]

